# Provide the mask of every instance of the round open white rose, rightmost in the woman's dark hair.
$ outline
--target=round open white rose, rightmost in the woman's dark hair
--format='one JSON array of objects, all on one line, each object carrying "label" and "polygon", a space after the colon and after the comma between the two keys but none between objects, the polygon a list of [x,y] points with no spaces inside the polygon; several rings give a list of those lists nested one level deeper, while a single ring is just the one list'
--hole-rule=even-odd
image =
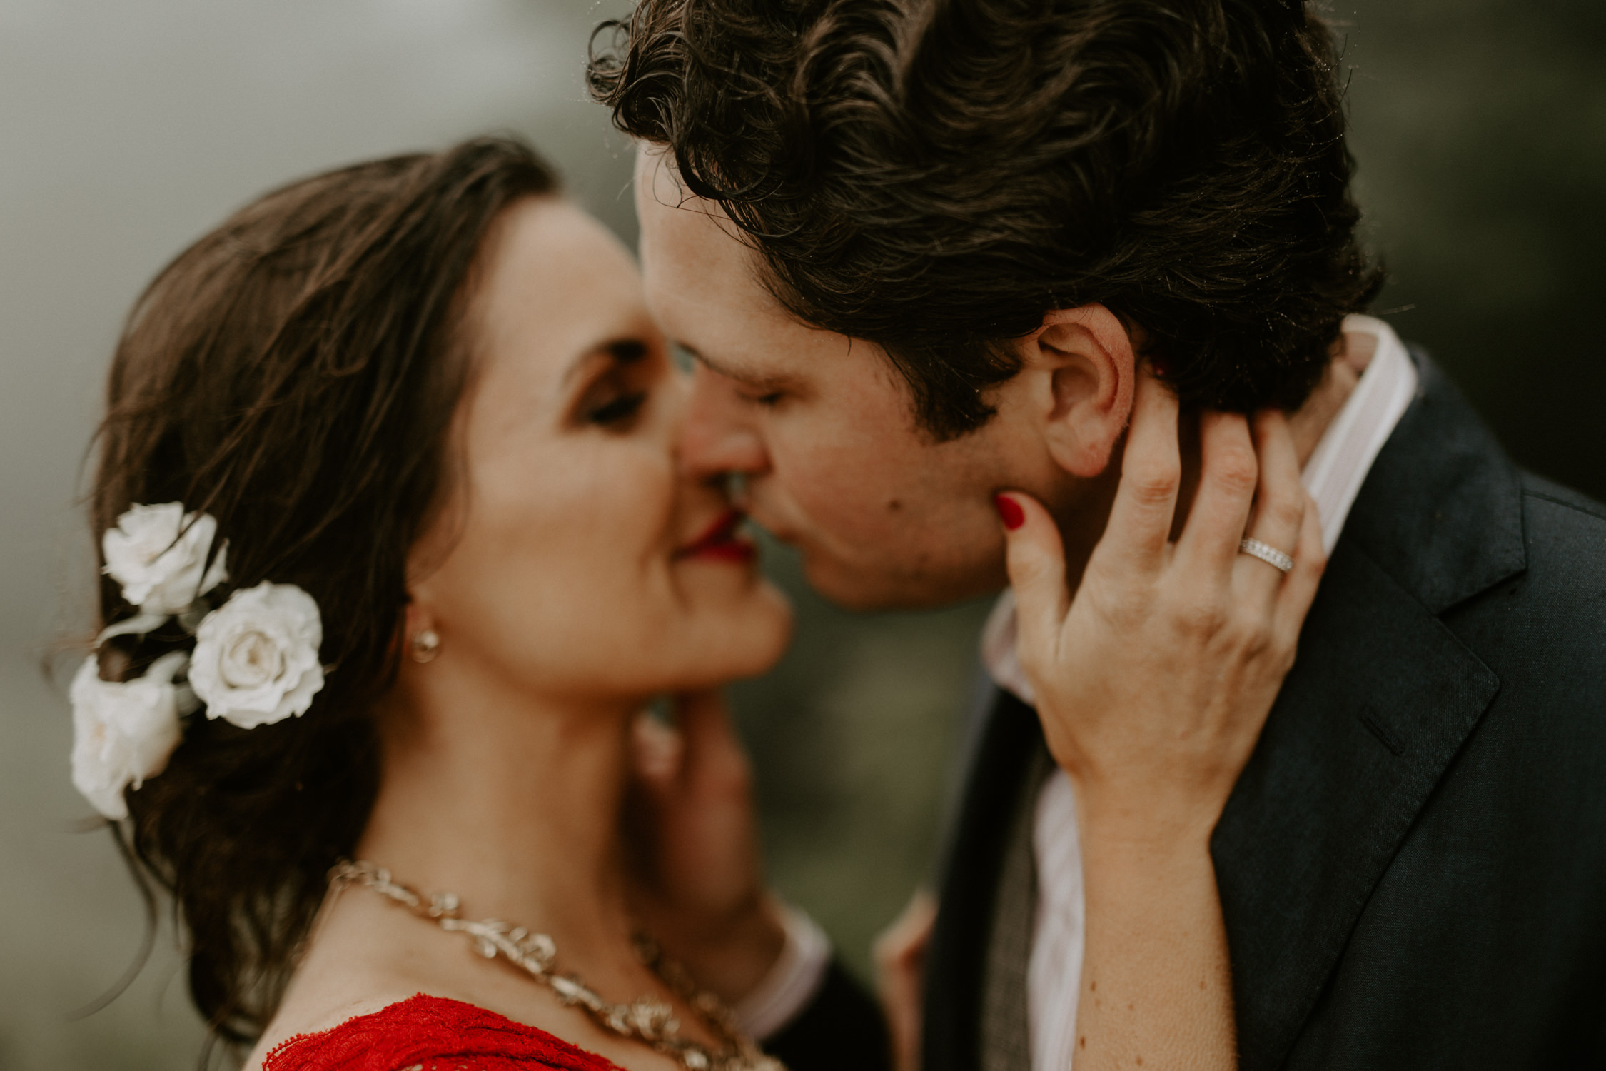
[{"label": "round open white rose, rightmost in the woman's dark hair", "polygon": [[300,716],[323,687],[318,604],[296,584],[236,591],[196,629],[190,687],[207,718],[241,729]]}]

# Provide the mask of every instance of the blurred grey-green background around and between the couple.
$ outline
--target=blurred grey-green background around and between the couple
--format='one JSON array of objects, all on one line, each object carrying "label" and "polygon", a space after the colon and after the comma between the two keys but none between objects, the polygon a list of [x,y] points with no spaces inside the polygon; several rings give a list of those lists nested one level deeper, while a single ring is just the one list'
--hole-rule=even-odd
[{"label": "blurred grey-green background around and between the couple", "polygon": [[[186,241],[349,159],[530,136],[633,241],[628,148],[580,56],[580,0],[0,0],[0,1071],[193,1063],[170,933],[133,988],[140,901],[67,784],[37,670],[87,621],[74,490],[117,324]],[[1606,5],[1367,0],[1344,39],[1378,305],[1516,458],[1606,498],[1596,358],[1606,239]],[[837,612],[771,548],[798,641],[736,703],[774,882],[851,963],[931,864],[986,607]]]}]

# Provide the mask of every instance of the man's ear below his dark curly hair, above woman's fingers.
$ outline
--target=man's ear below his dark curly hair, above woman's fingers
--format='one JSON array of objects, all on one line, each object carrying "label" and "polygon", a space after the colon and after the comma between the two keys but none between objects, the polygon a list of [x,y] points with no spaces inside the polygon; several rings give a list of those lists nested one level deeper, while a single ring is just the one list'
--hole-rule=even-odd
[{"label": "man's ear below his dark curly hair, above woman's fingers", "polygon": [[1044,438],[1054,461],[1079,477],[1110,464],[1132,416],[1137,358],[1119,316],[1103,305],[1054,310],[1023,340],[1026,366],[1049,385]]}]

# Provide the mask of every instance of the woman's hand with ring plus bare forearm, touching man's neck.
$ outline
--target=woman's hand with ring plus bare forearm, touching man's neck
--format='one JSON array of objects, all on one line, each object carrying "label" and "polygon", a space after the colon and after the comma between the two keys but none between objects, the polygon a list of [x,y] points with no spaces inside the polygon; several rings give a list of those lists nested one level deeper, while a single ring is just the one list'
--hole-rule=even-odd
[{"label": "woman's hand with ring plus bare forearm, touching man's neck", "polygon": [[[1139,382],[1108,527],[1073,596],[1047,511],[1001,495],[1021,668],[1076,790],[1087,909],[1076,1071],[1237,1066],[1209,835],[1254,750],[1323,568],[1278,413],[1206,413],[1198,491],[1177,403]],[[1238,552],[1248,535],[1293,570]],[[1070,1008],[1066,1008],[1070,1015]]]}]

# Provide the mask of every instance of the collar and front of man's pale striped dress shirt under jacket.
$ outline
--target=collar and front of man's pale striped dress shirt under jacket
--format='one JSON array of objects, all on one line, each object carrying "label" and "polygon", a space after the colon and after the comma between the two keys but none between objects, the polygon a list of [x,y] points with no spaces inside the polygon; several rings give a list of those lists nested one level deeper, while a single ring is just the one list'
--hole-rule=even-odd
[{"label": "collar and front of man's pale striped dress shirt under jacket", "polygon": [[[1338,544],[1372,462],[1416,393],[1416,366],[1392,328],[1372,316],[1349,316],[1344,334],[1351,337],[1351,353],[1375,348],[1302,474],[1322,517],[1322,544],[1328,554]],[[999,599],[981,633],[981,657],[999,687],[1033,702],[1031,684],[1015,655],[1015,601],[1009,593]],[[1026,968],[1031,1066],[1033,1071],[1066,1071],[1076,1053],[1086,909],[1076,796],[1065,771],[1055,771],[1037,793],[1033,853],[1037,912]]]}]

